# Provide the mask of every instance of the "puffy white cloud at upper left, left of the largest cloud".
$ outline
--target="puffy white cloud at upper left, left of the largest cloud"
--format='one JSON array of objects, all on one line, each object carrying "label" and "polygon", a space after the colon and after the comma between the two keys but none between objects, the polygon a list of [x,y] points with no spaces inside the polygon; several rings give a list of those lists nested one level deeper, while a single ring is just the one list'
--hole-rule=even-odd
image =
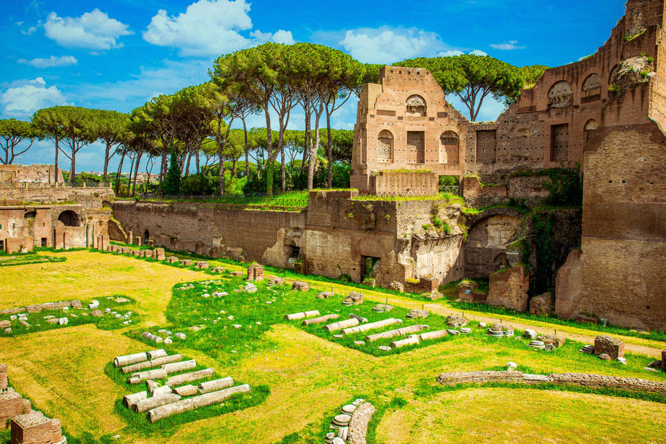
[{"label": "puffy white cloud at upper left, left of the largest cloud", "polygon": [[111,19],[105,12],[94,9],[81,17],[58,17],[51,12],[44,23],[46,37],[61,46],[71,48],[111,49],[122,44],[117,39],[122,35],[133,34],[128,25]]}]

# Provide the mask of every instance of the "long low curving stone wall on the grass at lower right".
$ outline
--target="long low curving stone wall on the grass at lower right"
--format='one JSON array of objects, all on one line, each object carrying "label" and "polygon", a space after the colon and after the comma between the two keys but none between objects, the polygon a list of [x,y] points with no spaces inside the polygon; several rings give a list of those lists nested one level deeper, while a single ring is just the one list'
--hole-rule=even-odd
[{"label": "long low curving stone wall on the grass at lower right", "polygon": [[666,394],[666,382],[649,381],[634,377],[592,375],[589,373],[551,373],[550,375],[528,375],[522,372],[476,371],[461,373],[442,373],[437,382],[444,386],[458,384],[487,384],[490,382],[509,382],[517,384],[561,384],[588,388],[620,388],[626,391]]}]

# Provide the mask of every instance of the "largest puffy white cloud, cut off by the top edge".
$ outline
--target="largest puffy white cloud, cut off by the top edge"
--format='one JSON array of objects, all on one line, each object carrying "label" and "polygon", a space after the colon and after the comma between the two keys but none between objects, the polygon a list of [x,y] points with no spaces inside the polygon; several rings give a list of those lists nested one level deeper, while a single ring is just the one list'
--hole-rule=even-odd
[{"label": "largest puffy white cloud, cut off by the top edge", "polygon": [[275,34],[254,31],[245,0],[199,0],[185,13],[169,15],[160,9],[144,31],[144,40],[157,46],[178,48],[181,56],[222,56],[263,42],[292,44],[290,31]]}]

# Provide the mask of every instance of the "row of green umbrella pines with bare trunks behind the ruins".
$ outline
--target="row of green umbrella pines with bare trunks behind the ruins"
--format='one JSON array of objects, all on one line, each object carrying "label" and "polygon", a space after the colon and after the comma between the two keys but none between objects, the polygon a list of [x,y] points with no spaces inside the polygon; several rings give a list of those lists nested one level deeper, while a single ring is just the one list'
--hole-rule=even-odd
[{"label": "row of green umbrella pines with bare trunks behind the ruins", "polygon": [[[511,103],[546,69],[473,55],[416,58],[393,65],[427,68],[446,94],[459,96],[472,121],[486,96]],[[191,162],[197,175],[216,174],[219,194],[225,193],[225,174],[237,177],[239,164],[244,177],[250,180],[254,174],[269,195],[275,180],[282,191],[295,186],[295,178],[312,189],[323,167],[325,186],[332,187],[334,166],[350,161],[353,142],[351,131],[331,127],[332,115],[352,97],[359,98],[361,85],[377,83],[381,66],[318,44],[262,44],[217,58],[209,70],[210,81],[157,96],[127,114],[56,106],[38,110],[29,122],[1,120],[0,162],[14,162],[35,139],[50,139],[56,167],[62,153],[71,162],[73,182],[77,153],[99,140],[105,146],[103,180],[108,180],[110,159],[119,155],[116,178],[129,160],[133,189],[142,158],[148,157],[151,165],[153,159],[160,160],[156,174],[162,180],[172,153],[180,176],[189,174]],[[296,108],[305,114],[303,131],[287,130]],[[271,112],[277,122],[271,121]],[[262,113],[265,128],[248,129],[248,117]],[[242,128],[232,129],[234,125]],[[26,141],[28,146],[20,145]]]}]

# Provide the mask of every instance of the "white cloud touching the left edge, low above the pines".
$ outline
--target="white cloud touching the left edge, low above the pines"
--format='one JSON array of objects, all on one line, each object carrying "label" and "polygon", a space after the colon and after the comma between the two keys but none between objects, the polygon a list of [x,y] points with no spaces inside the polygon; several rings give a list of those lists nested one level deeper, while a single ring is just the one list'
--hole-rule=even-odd
[{"label": "white cloud touching the left edge, low above the pines", "polygon": [[15,81],[0,94],[4,117],[28,117],[41,108],[64,103],[65,97],[58,88],[46,87],[41,77]]}]

